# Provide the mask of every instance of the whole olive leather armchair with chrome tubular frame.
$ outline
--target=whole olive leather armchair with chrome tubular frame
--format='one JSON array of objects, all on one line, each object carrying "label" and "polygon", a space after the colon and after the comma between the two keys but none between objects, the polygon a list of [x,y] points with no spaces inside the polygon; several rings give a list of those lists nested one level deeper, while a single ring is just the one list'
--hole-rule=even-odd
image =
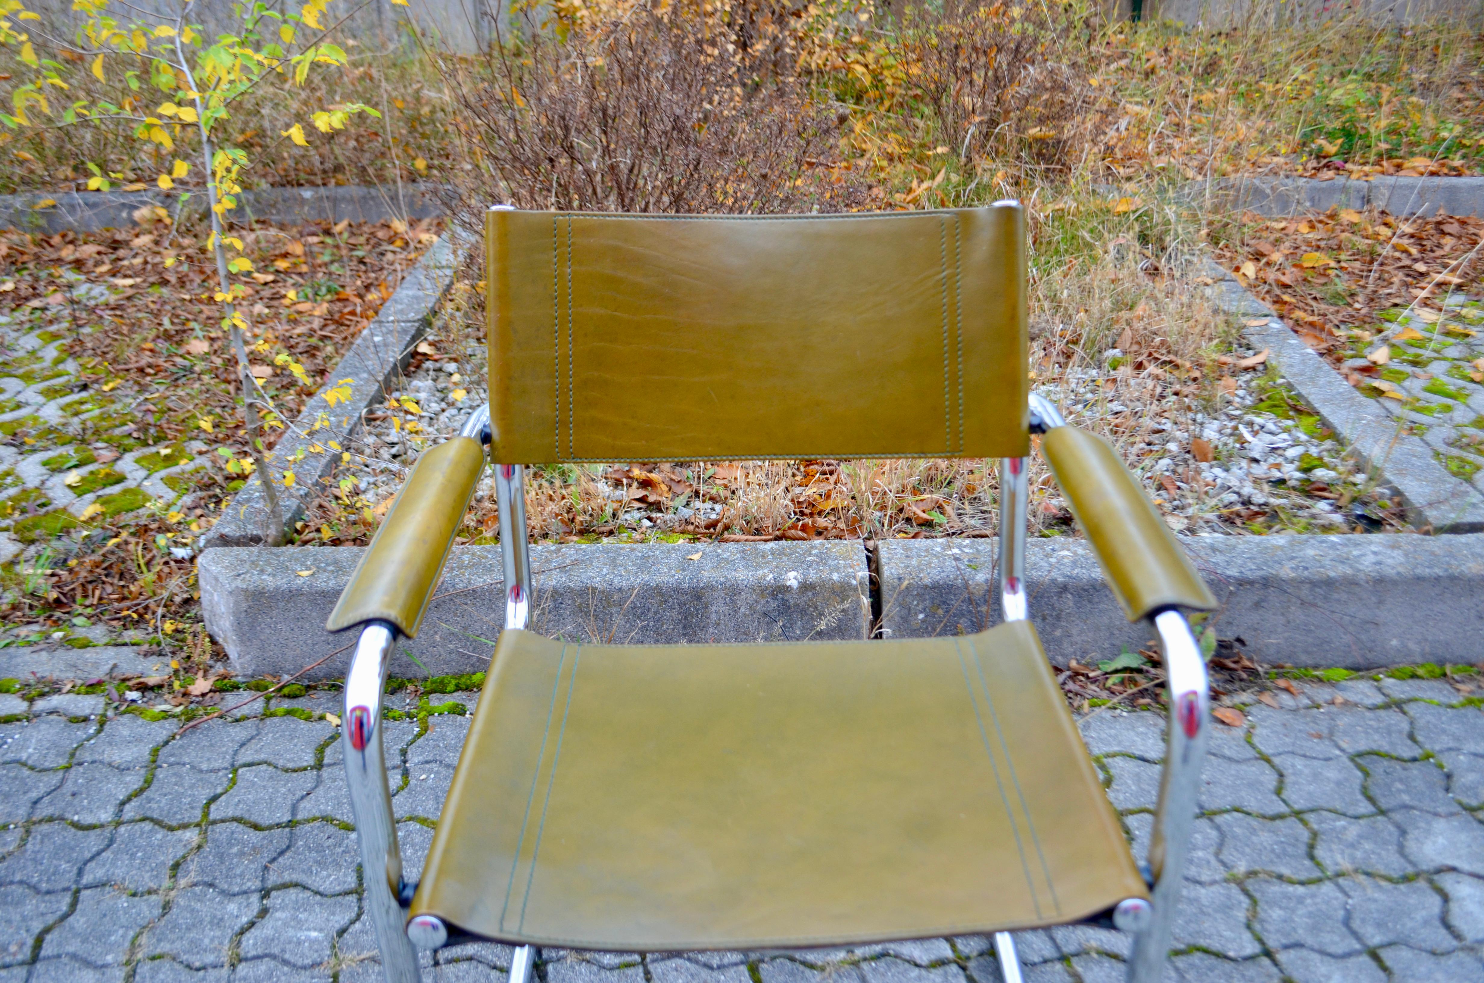
[{"label": "whole olive leather armchair with chrome tubular frame", "polygon": [[[1071,922],[1160,977],[1196,808],[1206,671],[1180,609],[1211,592],[1113,448],[1030,392],[1017,202],[862,215],[487,217],[490,405],[424,451],[329,618],[359,628],[344,759],[387,979],[414,946],[778,950]],[[1135,863],[1027,619],[1040,434],[1128,618],[1168,670],[1168,750]],[[381,751],[488,456],[499,639],[420,884]],[[522,465],[1000,457],[1005,621],[959,637],[589,644],[527,628]]]}]

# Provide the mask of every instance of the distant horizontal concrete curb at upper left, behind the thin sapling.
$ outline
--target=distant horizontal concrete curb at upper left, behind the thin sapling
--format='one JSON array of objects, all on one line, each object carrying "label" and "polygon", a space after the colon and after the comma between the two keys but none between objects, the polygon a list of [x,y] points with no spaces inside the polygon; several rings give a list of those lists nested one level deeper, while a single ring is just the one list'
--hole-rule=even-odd
[{"label": "distant horizontal concrete curb at upper left, behind the thin sapling", "polygon": [[[52,202],[39,208],[42,202]],[[426,184],[401,187],[269,187],[242,192],[237,214],[248,220],[300,224],[306,221],[386,221],[432,218],[442,214],[438,189]],[[162,192],[65,192],[56,195],[0,195],[0,229],[56,233],[64,229],[95,232],[134,224],[134,212],[156,205],[174,212],[200,212],[205,195],[186,202]]]}]

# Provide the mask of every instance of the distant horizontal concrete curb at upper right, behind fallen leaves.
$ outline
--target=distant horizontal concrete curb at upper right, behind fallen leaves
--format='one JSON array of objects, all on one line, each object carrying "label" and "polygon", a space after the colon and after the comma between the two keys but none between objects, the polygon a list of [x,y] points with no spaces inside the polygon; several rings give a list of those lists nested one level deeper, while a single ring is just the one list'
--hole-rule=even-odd
[{"label": "distant horizontal concrete curb at upper right, behind fallen leaves", "polygon": [[1235,177],[1192,181],[1180,197],[1196,206],[1251,211],[1267,218],[1331,208],[1379,208],[1393,215],[1484,215],[1484,178],[1376,177],[1355,178]]}]

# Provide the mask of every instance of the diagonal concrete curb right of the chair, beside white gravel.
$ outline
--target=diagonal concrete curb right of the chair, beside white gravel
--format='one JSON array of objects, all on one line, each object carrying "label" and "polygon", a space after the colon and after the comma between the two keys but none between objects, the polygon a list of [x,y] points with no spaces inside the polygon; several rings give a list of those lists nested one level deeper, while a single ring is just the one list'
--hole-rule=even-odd
[{"label": "diagonal concrete curb right of the chair, beside white gravel", "polygon": [[1450,475],[1431,447],[1402,432],[1385,410],[1358,393],[1230,272],[1206,260],[1205,273],[1215,281],[1209,293],[1217,307],[1247,321],[1263,319],[1245,328],[1248,343],[1267,349],[1273,365],[1324,425],[1395,490],[1408,523],[1439,533],[1484,532],[1484,497]]}]

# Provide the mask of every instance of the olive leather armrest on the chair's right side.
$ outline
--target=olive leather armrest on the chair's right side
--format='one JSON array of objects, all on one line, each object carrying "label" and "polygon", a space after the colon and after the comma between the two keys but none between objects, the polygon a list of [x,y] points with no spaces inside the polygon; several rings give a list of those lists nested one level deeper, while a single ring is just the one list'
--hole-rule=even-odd
[{"label": "olive leather armrest on the chair's right side", "polygon": [[1040,451],[1129,621],[1165,607],[1217,607],[1205,581],[1112,444],[1074,426],[1058,426],[1042,437]]}]

